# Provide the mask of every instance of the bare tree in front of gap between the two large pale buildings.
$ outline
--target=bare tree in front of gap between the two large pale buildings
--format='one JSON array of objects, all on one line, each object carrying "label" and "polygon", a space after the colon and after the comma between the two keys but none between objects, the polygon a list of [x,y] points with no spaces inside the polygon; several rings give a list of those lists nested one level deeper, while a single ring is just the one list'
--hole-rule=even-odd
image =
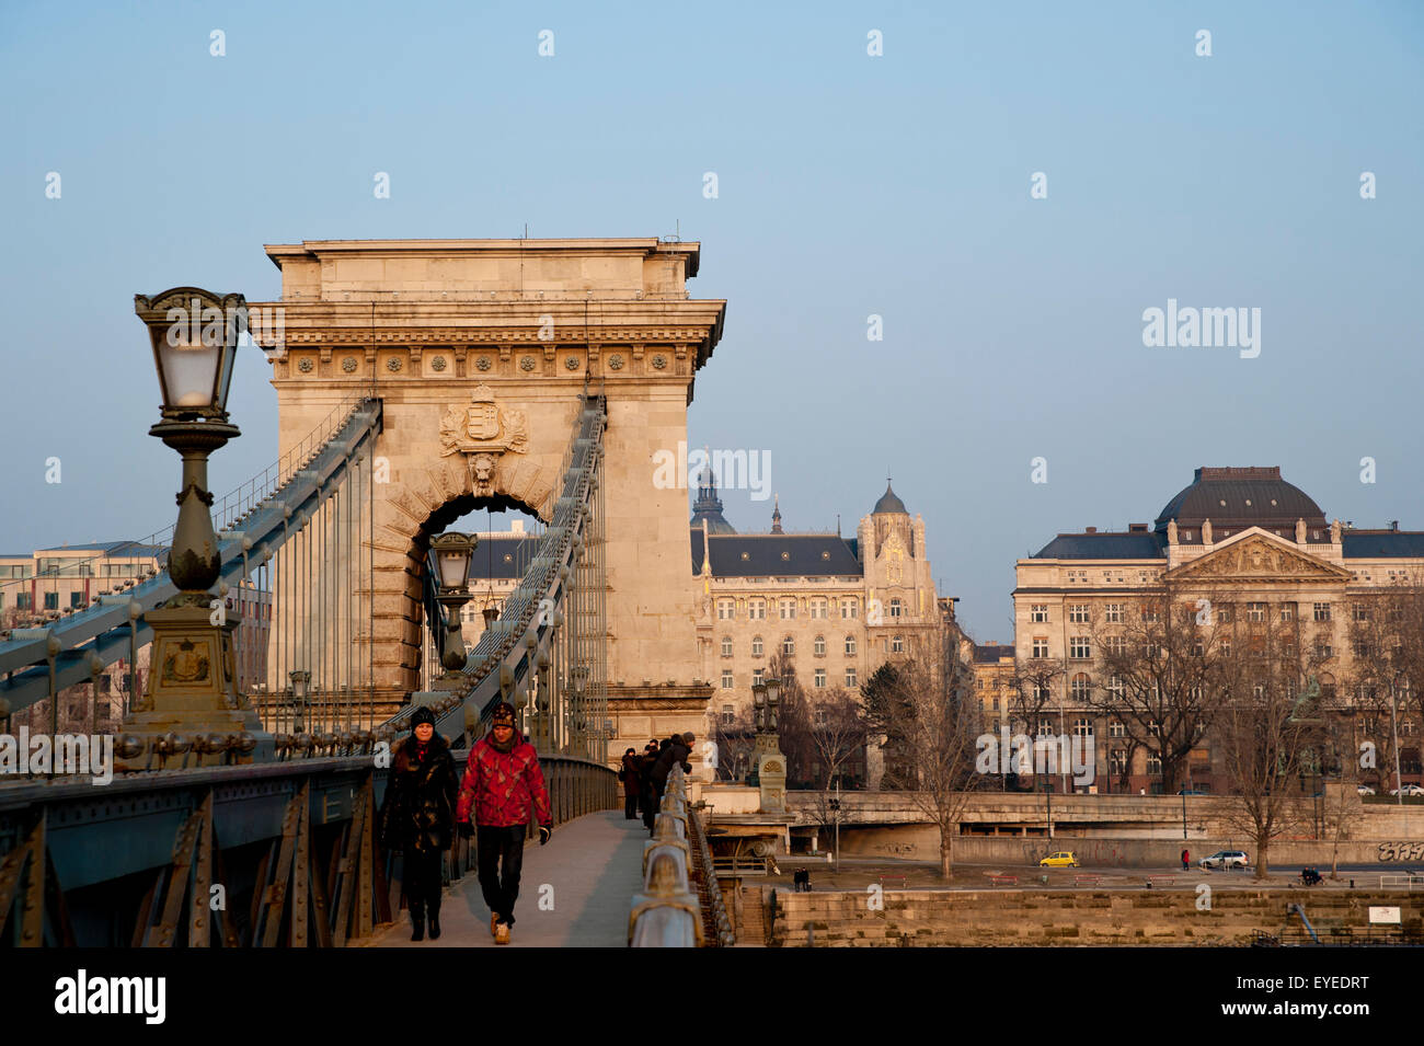
[{"label": "bare tree in front of gap between the two large pale buildings", "polygon": [[974,766],[983,710],[967,646],[957,629],[946,628],[937,643],[893,666],[867,694],[866,707],[870,727],[901,747],[904,759],[886,760],[886,776],[894,774],[893,784],[938,828],[944,878],[953,871],[954,837],[970,791],[984,780]]}]

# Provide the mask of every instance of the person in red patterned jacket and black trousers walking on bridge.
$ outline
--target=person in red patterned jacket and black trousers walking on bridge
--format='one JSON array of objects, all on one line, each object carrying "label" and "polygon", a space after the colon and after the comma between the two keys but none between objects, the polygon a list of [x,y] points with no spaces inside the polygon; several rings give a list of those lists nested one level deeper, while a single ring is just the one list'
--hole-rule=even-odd
[{"label": "person in red patterned jacket and black trousers walking on bridge", "polygon": [[470,750],[456,810],[456,824],[466,838],[476,834],[470,827],[471,807],[474,810],[480,889],[490,907],[490,932],[498,945],[510,942],[514,925],[531,804],[538,844],[544,845],[554,833],[544,771],[534,746],[514,729],[514,706],[500,702],[494,706],[488,736]]}]

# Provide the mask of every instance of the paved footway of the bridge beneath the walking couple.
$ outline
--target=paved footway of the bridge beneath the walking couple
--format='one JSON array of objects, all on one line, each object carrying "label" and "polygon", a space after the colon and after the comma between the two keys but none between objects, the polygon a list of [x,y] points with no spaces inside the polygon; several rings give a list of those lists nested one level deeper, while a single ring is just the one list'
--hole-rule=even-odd
[{"label": "paved footway of the bridge beneath the walking couple", "polygon": [[[548,845],[524,844],[511,948],[625,948],[632,895],[642,889],[642,821],[622,810],[585,814],[554,830]],[[543,898],[543,905],[541,905]],[[494,948],[490,909],[471,868],[446,889],[440,939],[412,941],[410,915],[372,938],[372,948]]]}]

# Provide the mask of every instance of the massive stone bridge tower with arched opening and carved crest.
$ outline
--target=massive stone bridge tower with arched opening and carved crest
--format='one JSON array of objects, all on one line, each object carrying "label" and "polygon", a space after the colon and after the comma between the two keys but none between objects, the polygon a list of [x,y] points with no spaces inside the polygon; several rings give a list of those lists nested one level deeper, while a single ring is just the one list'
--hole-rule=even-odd
[{"label": "massive stone bridge tower with arched opening and carved crest", "polygon": [[281,453],[343,401],[382,401],[360,529],[373,581],[349,630],[376,693],[394,703],[417,685],[429,535],[486,505],[550,519],[580,397],[601,391],[609,712],[645,737],[699,723],[712,690],[696,677],[688,495],[654,482],[658,451],[686,440],[693,379],[722,333],[726,303],[688,297],[699,245],[306,241],[266,253],[282,299],[252,306],[281,316]]}]

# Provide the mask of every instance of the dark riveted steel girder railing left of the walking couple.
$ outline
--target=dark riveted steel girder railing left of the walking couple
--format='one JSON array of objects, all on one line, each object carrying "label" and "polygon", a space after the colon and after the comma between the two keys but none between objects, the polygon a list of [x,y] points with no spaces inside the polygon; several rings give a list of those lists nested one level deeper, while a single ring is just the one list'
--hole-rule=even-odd
[{"label": "dark riveted steel girder railing left of the walking couple", "polygon": [[[557,824],[617,805],[608,767],[541,763]],[[380,840],[387,777],[363,754],[3,788],[0,944],[340,948],[369,936],[400,905],[397,855]],[[471,862],[459,841],[451,878]]]}]

